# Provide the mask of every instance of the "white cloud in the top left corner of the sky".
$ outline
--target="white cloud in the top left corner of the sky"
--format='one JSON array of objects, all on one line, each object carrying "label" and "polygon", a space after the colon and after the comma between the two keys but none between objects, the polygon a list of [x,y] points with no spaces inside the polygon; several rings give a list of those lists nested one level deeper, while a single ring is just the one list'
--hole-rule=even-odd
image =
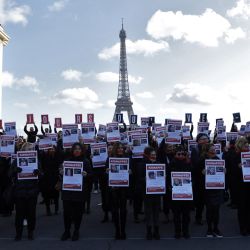
[{"label": "white cloud in the top left corner of the sky", "polygon": [[31,8],[28,5],[17,5],[12,0],[0,0],[0,23],[14,23],[25,26],[28,23],[28,16]]}]

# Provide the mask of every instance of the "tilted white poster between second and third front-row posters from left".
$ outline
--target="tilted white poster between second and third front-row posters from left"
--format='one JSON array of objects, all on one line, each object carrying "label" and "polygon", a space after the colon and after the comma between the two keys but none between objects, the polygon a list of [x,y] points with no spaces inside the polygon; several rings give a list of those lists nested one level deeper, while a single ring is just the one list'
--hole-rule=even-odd
[{"label": "tilted white poster between second and third front-row posters from left", "polygon": [[107,144],[103,143],[93,143],[90,145],[93,168],[105,167],[106,160],[108,158]]}]

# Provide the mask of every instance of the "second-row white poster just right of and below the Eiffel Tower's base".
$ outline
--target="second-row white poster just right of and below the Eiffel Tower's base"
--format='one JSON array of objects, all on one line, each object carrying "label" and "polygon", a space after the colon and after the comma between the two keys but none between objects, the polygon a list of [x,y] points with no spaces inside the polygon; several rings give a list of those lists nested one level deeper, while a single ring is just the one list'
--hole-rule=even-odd
[{"label": "second-row white poster just right of and below the Eiffel Tower's base", "polygon": [[133,158],[143,158],[144,149],[148,146],[148,134],[132,135]]}]

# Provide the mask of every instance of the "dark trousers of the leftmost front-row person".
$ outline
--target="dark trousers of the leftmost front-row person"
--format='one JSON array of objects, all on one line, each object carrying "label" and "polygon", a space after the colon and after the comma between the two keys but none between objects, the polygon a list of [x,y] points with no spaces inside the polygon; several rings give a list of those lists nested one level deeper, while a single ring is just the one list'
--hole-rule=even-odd
[{"label": "dark trousers of the leftmost front-row person", "polygon": [[29,232],[34,231],[36,226],[36,204],[37,204],[37,197],[15,199],[15,207],[16,207],[15,226],[17,233],[20,234],[22,233],[24,219],[27,219],[28,231]]}]

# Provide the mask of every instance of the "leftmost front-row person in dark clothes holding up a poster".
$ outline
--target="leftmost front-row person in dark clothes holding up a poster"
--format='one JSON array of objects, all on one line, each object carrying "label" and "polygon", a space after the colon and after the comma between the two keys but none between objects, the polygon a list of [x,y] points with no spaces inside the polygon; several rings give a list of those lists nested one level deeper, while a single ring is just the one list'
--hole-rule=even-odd
[{"label": "leftmost front-row person in dark clothes holding up a poster", "polygon": [[[35,155],[33,151],[33,145],[31,143],[23,144],[20,152],[26,152],[29,154]],[[35,159],[33,156],[31,158],[26,158],[27,162],[33,162]],[[21,160],[21,159],[20,159]],[[15,160],[11,166],[11,176],[13,177],[15,183],[14,191],[14,202],[16,208],[16,241],[22,239],[23,234],[23,222],[24,219],[27,219],[28,223],[28,239],[34,239],[34,230],[36,225],[36,204],[37,196],[39,193],[38,186],[38,174],[39,170],[36,168],[33,171],[32,177],[28,178],[19,178],[19,175],[22,174],[23,169],[19,166],[18,162]],[[38,166],[37,166],[38,167]],[[25,174],[23,174],[25,175]]]}]

